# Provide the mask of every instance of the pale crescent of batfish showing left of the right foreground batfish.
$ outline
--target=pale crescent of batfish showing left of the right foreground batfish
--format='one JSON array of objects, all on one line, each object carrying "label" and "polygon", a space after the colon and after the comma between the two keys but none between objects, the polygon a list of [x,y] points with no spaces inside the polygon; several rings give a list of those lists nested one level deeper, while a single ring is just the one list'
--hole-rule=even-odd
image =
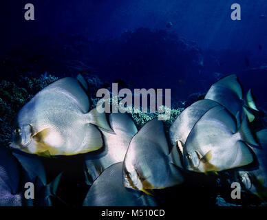
[{"label": "pale crescent of batfish showing left of the right foreground batfish", "polygon": [[217,105],[219,105],[219,103],[213,100],[204,99],[194,102],[191,106],[184,109],[173,124],[171,124],[169,130],[171,144],[174,145],[178,140],[185,143],[195,123],[200,120],[206,111],[209,111],[209,109]]}]

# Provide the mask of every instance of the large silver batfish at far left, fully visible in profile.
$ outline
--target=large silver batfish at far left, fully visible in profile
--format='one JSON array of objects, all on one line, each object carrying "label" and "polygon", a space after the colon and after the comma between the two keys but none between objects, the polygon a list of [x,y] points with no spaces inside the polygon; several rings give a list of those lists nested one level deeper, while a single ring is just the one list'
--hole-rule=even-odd
[{"label": "large silver batfish at far left, fully visible in profile", "polygon": [[88,113],[89,98],[75,78],[62,78],[36,94],[17,115],[10,146],[34,154],[75,155],[103,146],[105,113]]}]

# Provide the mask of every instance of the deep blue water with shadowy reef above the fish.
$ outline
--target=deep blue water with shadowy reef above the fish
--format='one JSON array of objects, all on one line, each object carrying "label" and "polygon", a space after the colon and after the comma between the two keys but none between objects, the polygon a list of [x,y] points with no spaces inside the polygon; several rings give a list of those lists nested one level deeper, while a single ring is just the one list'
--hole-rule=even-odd
[{"label": "deep blue water with shadowy reef above the fish", "polygon": [[[24,20],[25,3],[34,4],[35,21]],[[241,5],[241,21],[231,20],[233,3]],[[172,96],[182,100],[235,73],[245,89],[253,87],[262,106],[267,101],[267,18],[259,18],[267,14],[264,0],[1,0],[0,7],[0,54],[2,61],[6,59],[0,68],[3,78],[27,74],[29,68],[36,74],[76,74],[73,69],[66,72],[67,65],[60,62],[75,60],[74,65],[83,61],[109,83],[122,78],[137,88],[171,88]],[[173,26],[167,28],[170,21]],[[122,34],[138,28],[148,29],[125,43]],[[164,33],[153,34],[159,30],[184,39],[188,52],[179,53],[182,47],[173,49],[169,40],[160,43]],[[96,39],[100,43],[91,42]],[[46,60],[31,59],[39,55]],[[19,65],[27,60],[27,67],[14,69],[19,66],[18,56]],[[12,60],[9,66],[7,59]]]}]

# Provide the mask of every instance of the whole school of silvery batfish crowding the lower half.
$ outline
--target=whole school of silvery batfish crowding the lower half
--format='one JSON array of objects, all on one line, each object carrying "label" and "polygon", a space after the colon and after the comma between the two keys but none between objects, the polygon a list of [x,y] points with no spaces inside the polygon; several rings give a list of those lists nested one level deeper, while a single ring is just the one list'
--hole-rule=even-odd
[{"label": "whole school of silvery batfish crowding the lower half", "polygon": [[[153,118],[138,131],[127,113],[89,111],[83,76],[39,91],[17,114],[10,149],[0,148],[0,206],[51,206],[61,174],[47,184],[40,156],[84,155],[83,206],[157,206],[154,190],[178,186],[184,173],[234,169],[244,190],[267,199],[267,130],[253,131],[257,106],[236,75],[214,83],[203,100],[165,131]],[[253,169],[247,166],[253,164]],[[25,199],[20,182],[36,183]]]}]

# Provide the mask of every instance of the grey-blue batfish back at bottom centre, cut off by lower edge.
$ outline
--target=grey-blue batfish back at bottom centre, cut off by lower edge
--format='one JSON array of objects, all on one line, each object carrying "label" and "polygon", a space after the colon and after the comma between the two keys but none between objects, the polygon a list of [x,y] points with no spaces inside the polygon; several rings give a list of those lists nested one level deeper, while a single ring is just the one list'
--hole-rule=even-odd
[{"label": "grey-blue batfish back at bottom centre, cut off by lower edge", "polygon": [[83,206],[156,206],[143,192],[129,190],[122,184],[122,162],[104,170],[89,188]]}]

